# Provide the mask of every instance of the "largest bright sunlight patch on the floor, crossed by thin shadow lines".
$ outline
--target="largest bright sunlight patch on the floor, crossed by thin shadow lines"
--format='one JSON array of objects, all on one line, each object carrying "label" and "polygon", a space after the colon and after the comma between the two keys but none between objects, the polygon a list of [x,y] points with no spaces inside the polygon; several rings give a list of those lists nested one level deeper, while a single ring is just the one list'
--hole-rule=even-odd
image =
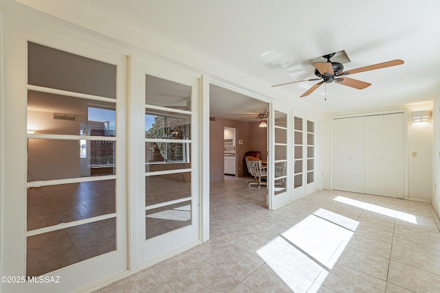
[{"label": "largest bright sunlight patch on the floor, crossed by thin shadow lines", "polygon": [[[318,209],[256,251],[294,292],[318,292],[359,222]],[[281,248],[274,255],[274,248]]]}]

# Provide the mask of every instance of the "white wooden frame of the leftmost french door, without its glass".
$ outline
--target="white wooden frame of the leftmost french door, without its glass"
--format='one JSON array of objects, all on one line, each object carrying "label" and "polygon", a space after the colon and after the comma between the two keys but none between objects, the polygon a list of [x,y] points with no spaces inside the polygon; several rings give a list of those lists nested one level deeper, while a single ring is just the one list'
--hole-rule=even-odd
[{"label": "white wooden frame of the leftmost french door, without its glass", "polygon": [[[126,95],[127,95],[127,56],[118,50],[109,49],[98,41],[87,40],[76,37],[74,34],[59,28],[34,24],[31,21],[21,19],[20,16],[2,16],[3,29],[3,78],[8,76],[8,83],[3,87],[3,113],[2,124],[8,121],[8,128],[3,128],[2,155],[3,168],[8,172],[2,173],[2,235],[8,235],[7,241],[1,239],[1,273],[8,276],[25,276],[26,266],[26,236],[33,235],[26,231],[26,117],[27,117],[27,42],[39,43],[55,49],[78,54],[94,60],[107,62],[117,67],[117,86],[115,104],[117,147],[116,147],[116,170],[114,178],[117,180],[116,212],[114,214],[97,216],[93,219],[79,220],[75,223],[62,223],[56,227],[47,227],[45,231],[58,230],[69,226],[94,222],[97,219],[103,220],[109,216],[116,217],[116,249],[86,259],[78,263],[59,268],[45,274],[47,277],[59,276],[66,292],[80,290],[86,285],[96,283],[98,280],[109,278],[109,276],[120,274],[127,270],[128,263],[128,242],[127,242],[127,209],[126,209]],[[46,91],[46,90],[44,90]],[[60,93],[63,91],[52,91],[48,93]],[[67,92],[64,92],[67,93]],[[76,95],[74,97],[86,97],[87,95]],[[79,152],[79,150],[78,150]],[[110,176],[113,178],[113,176]],[[76,181],[88,181],[90,178],[76,178],[76,180],[61,179],[57,183],[70,183]],[[44,182],[42,185],[45,185]],[[8,207],[5,209],[5,207]],[[109,266],[108,263],[112,265]],[[3,284],[2,290],[15,291],[17,287],[9,288]],[[55,290],[50,283],[25,283],[20,290],[26,292],[51,292]],[[58,285],[58,284],[56,284]]]}]

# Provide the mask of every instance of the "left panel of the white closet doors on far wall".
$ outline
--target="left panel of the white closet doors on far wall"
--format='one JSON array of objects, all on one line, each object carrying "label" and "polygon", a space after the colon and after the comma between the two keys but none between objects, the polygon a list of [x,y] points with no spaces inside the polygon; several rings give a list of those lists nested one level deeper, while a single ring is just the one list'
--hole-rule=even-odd
[{"label": "left panel of the white closet doors on far wall", "polygon": [[364,117],[333,120],[333,189],[364,192]]}]

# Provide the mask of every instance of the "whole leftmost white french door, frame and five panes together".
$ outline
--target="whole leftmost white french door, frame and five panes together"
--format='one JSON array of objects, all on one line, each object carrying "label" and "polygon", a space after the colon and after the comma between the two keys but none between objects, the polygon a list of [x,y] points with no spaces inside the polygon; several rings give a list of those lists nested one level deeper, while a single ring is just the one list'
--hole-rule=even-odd
[{"label": "whole leftmost white french door, frame and five panes together", "polygon": [[9,16],[3,25],[2,274],[78,290],[127,270],[127,57]]}]

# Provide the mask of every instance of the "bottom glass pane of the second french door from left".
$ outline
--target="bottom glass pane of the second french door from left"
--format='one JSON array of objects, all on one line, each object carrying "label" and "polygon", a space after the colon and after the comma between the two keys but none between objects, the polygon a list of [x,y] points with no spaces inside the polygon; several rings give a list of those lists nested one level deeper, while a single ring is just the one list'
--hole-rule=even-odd
[{"label": "bottom glass pane of the second french door from left", "polygon": [[191,201],[151,209],[145,213],[146,239],[191,224]]}]

